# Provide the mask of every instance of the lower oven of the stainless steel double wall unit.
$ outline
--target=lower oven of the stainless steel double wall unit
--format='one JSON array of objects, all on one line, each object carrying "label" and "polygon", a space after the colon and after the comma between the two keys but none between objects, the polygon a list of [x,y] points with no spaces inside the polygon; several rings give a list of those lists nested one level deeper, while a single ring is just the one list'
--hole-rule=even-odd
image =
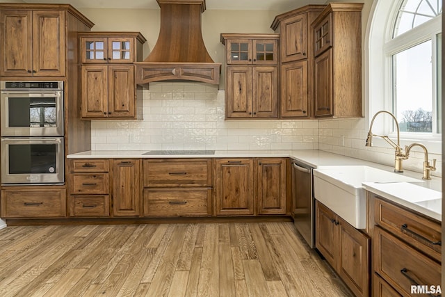
[{"label": "lower oven of the stainless steel double wall unit", "polygon": [[1,138],[1,184],[63,184],[63,137]]}]

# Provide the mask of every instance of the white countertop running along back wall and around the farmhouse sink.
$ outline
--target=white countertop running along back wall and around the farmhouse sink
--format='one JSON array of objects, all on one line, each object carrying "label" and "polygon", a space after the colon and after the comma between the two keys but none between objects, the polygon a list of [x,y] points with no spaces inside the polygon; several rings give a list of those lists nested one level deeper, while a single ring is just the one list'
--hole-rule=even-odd
[{"label": "white countertop running along back wall and around the farmhouse sink", "polygon": [[[342,156],[339,154],[332,154],[330,152],[323,152],[320,150],[216,150],[215,154],[174,154],[174,155],[144,155],[144,151],[116,151],[116,150],[101,150],[101,151],[86,151],[76,154],[70,154],[67,156],[69,159],[88,159],[88,158],[248,158],[248,157],[289,157],[306,163],[313,168],[321,168],[323,166],[338,166],[338,165],[366,165],[383,170],[393,171],[391,166],[385,166],[378,163],[364,161],[360,159],[350,158],[348,156]],[[414,177],[421,179],[421,172],[412,172],[405,170],[403,173],[408,177]],[[365,181],[364,181],[365,182]],[[415,211],[419,211],[421,214],[425,214],[437,220],[442,220],[442,179],[439,177],[432,177],[431,180],[425,181],[422,186],[430,188],[437,193],[441,194],[441,200],[437,198],[435,202],[421,202],[414,203],[409,200],[403,200],[400,195],[395,195],[391,191],[391,186],[388,184],[385,189],[372,186],[369,183],[363,185],[367,191],[378,193],[378,195],[392,200],[398,204],[403,204],[406,207],[410,207]],[[435,193],[435,195],[437,195]],[[440,202],[440,203],[439,203]]]}]

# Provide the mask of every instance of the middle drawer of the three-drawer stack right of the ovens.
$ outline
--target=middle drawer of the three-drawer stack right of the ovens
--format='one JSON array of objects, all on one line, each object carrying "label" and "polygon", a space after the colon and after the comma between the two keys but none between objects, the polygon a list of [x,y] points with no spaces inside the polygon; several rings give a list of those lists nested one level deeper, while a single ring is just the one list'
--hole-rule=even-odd
[{"label": "middle drawer of the three-drawer stack right of the ovens", "polygon": [[70,194],[108,194],[108,173],[70,175]]}]

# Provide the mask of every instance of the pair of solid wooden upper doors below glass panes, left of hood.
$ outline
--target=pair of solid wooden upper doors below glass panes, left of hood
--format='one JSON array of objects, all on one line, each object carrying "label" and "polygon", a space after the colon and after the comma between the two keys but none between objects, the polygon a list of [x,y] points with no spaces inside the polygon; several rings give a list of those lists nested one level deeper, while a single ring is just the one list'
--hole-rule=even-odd
[{"label": "pair of solid wooden upper doors below glass panes, left of hood", "polygon": [[82,118],[135,118],[133,65],[83,65]]}]

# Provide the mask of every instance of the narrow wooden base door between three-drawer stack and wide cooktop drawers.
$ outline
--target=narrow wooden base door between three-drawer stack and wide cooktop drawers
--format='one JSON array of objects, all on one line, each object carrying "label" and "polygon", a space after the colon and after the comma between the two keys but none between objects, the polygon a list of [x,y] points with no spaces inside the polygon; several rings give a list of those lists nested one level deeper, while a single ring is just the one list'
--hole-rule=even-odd
[{"label": "narrow wooden base door between three-drawer stack and wide cooktop drawers", "polygon": [[113,216],[140,215],[140,160],[113,160]]}]

